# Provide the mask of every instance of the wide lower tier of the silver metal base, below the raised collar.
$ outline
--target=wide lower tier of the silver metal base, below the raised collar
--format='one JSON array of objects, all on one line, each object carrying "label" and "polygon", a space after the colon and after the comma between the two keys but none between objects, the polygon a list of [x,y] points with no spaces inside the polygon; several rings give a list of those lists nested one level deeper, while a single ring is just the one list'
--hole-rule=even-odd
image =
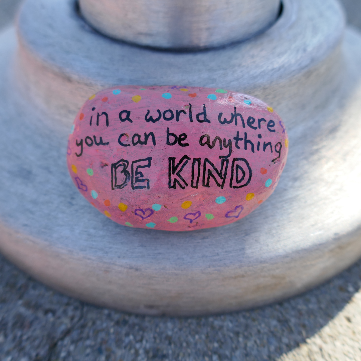
[{"label": "wide lower tier of the silver metal base, below the raised collar", "polygon": [[79,299],[144,314],[250,308],[303,292],[361,255],[361,36],[347,31],[344,80],[327,111],[288,131],[277,189],[248,217],[193,232],[123,227],[87,204],[66,170],[67,134],[8,77],[0,36],[1,252]]}]

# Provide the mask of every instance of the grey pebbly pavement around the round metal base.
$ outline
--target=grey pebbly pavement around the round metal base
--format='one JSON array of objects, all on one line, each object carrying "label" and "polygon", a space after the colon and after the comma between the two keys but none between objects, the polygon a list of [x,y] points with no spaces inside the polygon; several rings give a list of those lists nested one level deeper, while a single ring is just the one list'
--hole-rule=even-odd
[{"label": "grey pebbly pavement around the round metal base", "polygon": [[[0,27],[19,1],[0,0]],[[344,0],[361,27],[360,0]],[[0,256],[0,361],[361,360],[361,261],[301,296],[212,317],[97,308],[35,281]]]}]

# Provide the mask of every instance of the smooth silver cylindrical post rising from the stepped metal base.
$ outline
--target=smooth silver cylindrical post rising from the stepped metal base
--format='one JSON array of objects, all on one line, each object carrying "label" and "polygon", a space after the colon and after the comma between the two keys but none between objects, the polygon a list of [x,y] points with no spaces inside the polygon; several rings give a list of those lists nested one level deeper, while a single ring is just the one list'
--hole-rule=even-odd
[{"label": "smooth silver cylindrical post rising from the stepped metal base", "polygon": [[280,0],[80,0],[95,29],[112,38],[159,48],[207,48],[268,29]]}]

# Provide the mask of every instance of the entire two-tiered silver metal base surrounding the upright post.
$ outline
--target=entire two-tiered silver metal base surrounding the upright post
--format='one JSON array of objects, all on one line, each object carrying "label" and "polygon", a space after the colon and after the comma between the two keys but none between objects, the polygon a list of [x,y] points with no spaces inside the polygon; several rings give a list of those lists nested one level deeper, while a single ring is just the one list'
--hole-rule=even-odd
[{"label": "entire two-tiered silver metal base surrounding the upright post", "polygon": [[[340,44],[334,1],[297,3],[286,1],[284,17],[249,42],[174,54],[103,38],[70,2],[28,0],[12,71],[14,33],[0,36],[1,252],[80,299],[173,315],[279,300],[360,257],[361,37],[348,31]],[[129,82],[248,89],[274,105],[290,153],[270,199],[230,226],[191,234],[122,227],[89,206],[66,170],[70,124],[84,97]]]}]

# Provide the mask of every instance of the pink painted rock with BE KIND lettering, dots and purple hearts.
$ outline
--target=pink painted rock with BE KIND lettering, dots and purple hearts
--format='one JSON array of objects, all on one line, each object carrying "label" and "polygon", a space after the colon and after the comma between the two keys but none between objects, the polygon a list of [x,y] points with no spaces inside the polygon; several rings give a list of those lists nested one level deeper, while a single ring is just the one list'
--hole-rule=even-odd
[{"label": "pink painted rock with BE KIND lettering, dots and purple hearts", "polygon": [[92,95],[68,144],[75,186],[121,225],[223,226],[264,202],[286,163],[287,133],[262,101],[223,89],[118,86]]}]

